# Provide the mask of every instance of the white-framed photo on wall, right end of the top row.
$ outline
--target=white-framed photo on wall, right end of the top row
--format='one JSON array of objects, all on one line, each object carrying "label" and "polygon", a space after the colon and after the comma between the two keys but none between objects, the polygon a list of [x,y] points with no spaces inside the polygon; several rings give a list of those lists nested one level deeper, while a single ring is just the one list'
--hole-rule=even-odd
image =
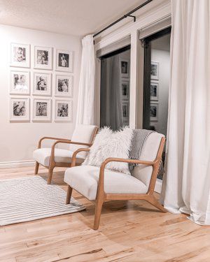
[{"label": "white-framed photo on wall, right end of the top row", "polygon": [[73,52],[71,51],[56,51],[56,70],[73,72]]}]

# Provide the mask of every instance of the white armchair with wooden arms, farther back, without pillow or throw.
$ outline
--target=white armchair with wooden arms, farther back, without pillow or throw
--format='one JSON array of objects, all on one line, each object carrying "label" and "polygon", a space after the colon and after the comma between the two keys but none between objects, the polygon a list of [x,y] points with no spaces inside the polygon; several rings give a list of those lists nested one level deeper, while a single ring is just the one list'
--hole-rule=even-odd
[{"label": "white armchair with wooden arms, farther back, without pillow or throw", "polygon": [[[52,138],[43,137],[38,141],[38,148],[33,152],[33,159],[36,161],[35,175],[38,173],[39,164],[48,168],[48,184],[51,183],[52,173],[55,166],[59,167],[71,167],[71,159],[73,152],[78,150],[80,147],[90,147],[94,136],[98,130],[97,126],[78,124],[76,129],[73,131],[73,135],[70,139],[64,138]],[[45,148],[41,147],[43,140],[50,139],[56,140],[52,147]],[[60,143],[69,144],[69,150],[56,148]],[[75,164],[79,165],[83,163],[86,157],[86,152],[80,152],[76,155]]]}]

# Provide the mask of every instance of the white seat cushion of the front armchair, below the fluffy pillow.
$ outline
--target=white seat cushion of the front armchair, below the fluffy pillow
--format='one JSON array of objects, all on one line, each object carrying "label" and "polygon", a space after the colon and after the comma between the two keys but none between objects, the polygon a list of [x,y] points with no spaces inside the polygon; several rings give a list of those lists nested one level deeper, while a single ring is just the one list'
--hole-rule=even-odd
[{"label": "white seat cushion of the front armchair, below the fluffy pillow", "polygon": [[[89,200],[96,199],[99,181],[97,166],[75,166],[66,169],[64,182]],[[105,170],[104,191],[106,194],[146,194],[148,187],[132,175]]]}]

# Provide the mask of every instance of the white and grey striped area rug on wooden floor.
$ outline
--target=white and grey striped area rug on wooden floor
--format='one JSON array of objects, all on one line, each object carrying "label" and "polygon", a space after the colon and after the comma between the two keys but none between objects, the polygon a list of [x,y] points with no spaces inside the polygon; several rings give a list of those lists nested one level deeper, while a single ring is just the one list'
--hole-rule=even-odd
[{"label": "white and grey striped area rug on wooden floor", "polygon": [[73,198],[70,205],[65,201],[66,191],[40,176],[0,180],[0,226],[85,209]]}]

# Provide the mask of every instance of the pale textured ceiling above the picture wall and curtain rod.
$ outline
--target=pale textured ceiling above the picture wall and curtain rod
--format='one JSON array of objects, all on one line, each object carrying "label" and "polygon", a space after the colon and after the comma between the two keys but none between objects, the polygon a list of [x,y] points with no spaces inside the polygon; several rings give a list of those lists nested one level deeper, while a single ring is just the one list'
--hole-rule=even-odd
[{"label": "pale textured ceiling above the picture wall and curtain rod", "polygon": [[84,36],[97,32],[142,2],[144,1],[0,0],[0,24]]}]

